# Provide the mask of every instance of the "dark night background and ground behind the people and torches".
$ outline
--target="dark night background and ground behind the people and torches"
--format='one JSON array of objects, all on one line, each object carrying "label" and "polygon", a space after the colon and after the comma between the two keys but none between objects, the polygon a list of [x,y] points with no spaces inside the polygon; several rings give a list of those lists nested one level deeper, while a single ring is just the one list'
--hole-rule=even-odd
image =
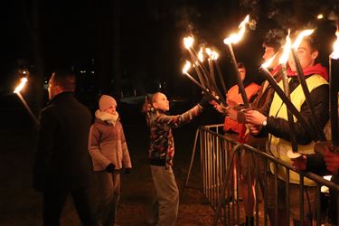
[{"label": "dark night background and ground behind the people and torches", "polygon": [[[248,78],[260,82],[261,43],[269,29],[292,31],[317,28],[326,65],[332,48],[338,0],[12,0],[0,7],[0,225],[42,225],[42,195],[33,190],[32,168],[36,127],[13,93],[29,71],[22,94],[38,116],[45,105],[43,89],[55,67],[67,67],[78,76],[76,95],[92,112],[101,93],[118,99],[134,166],[123,175],[118,211],[120,225],[146,225],[146,203],[152,196],[147,164],[147,128],[140,113],[143,96],[161,90],[171,99],[171,114],[181,113],[201,99],[200,90],[182,75],[189,59],[183,38],[193,34],[200,44],[215,47],[227,86],[234,73],[222,43],[246,14],[256,21],[233,46],[244,61]],[[325,19],[316,20],[323,13]],[[193,76],[195,74],[192,72]],[[202,124],[222,122],[213,109],[174,130],[174,174],[181,188],[187,175],[194,132]],[[211,225],[214,212],[201,188],[199,155],[193,167],[192,188],[181,200],[178,225]],[[193,183],[192,183],[193,181]],[[62,225],[80,225],[70,200]]]}]

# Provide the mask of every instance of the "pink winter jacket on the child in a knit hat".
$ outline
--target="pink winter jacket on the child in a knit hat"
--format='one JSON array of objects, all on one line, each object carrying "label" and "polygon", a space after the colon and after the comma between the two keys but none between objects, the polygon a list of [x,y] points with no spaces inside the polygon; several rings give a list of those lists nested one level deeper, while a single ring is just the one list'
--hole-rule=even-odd
[{"label": "pink winter jacket on the child in a knit hat", "polygon": [[94,171],[105,170],[110,163],[116,170],[132,167],[120,121],[113,126],[96,118],[89,130],[89,155]]}]

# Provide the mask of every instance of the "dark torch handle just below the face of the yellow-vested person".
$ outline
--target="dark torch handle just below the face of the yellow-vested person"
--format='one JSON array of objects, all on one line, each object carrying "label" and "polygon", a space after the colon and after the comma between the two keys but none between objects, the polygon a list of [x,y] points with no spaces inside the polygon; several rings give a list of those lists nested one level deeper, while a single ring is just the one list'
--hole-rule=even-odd
[{"label": "dark torch handle just below the face of the yellow-vested person", "polygon": [[315,125],[316,134],[321,141],[325,141],[326,140],[325,134],[324,134],[323,129],[320,127],[318,120],[315,116],[315,106],[313,105],[311,95],[309,93],[309,89],[308,89],[307,84],[306,84],[306,80],[305,80],[305,77],[304,77],[304,71],[301,68],[299,59],[297,58],[297,52],[293,48],[291,49],[291,51],[292,51],[293,59],[294,59],[296,66],[297,66],[297,78],[300,82],[301,88],[304,91],[306,104],[307,104],[308,108],[310,108],[310,110],[311,110],[311,118],[312,118],[313,124]]}]

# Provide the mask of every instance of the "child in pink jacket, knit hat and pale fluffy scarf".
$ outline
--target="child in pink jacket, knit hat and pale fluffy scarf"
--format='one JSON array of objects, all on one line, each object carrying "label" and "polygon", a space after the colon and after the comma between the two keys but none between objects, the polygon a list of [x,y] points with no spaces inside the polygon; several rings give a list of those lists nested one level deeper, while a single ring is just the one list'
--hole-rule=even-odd
[{"label": "child in pink jacket, knit hat and pale fluffy scarf", "polygon": [[117,101],[108,95],[99,99],[94,124],[89,130],[89,155],[102,195],[96,208],[101,225],[116,225],[120,197],[120,173],[132,169],[124,130],[116,111]]}]

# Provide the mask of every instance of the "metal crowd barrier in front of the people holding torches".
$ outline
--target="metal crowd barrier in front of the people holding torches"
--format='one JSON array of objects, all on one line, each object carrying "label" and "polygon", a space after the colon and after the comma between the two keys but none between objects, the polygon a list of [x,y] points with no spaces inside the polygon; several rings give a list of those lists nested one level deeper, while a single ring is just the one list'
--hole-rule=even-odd
[{"label": "metal crowd barrier in front of the people holding torches", "polygon": [[[212,209],[216,212],[213,220],[213,225],[240,225],[241,221],[245,218],[244,200],[241,199],[240,190],[247,184],[251,187],[251,182],[255,181],[254,191],[257,199],[255,200],[255,213],[254,223],[255,225],[278,225],[278,222],[269,223],[268,221],[268,163],[274,165],[274,167],[283,166],[287,170],[286,181],[289,181],[289,172],[295,172],[299,175],[300,185],[299,192],[304,192],[304,178],[309,178],[316,183],[316,212],[313,213],[316,225],[322,225],[324,219],[322,212],[325,211],[325,207],[322,206],[321,187],[326,186],[333,190],[336,195],[336,210],[339,213],[339,185],[325,180],[323,177],[306,172],[297,172],[291,165],[287,165],[284,162],[279,161],[272,155],[260,151],[252,146],[239,144],[231,137],[223,135],[223,125],[211,125],[199,127],[195,134],[193,154],[191,158],[191,164],[189,166],[188,174],[185,180],[184,188],[187,187],[190,174],[193,167],[193,159],[197,149],[198,141],[200,141],[200,161],[202,169],[202,193],[207,200],[211,203]],[[246,161],[244,165],[243,161],[240,161],[244,155],[248,156],[250,161]],[[242,162],[242,166],[241,166]],[[259,164],[261,163],[261,164]],[[246,169],[247,174],[241,177],[241,170]],[[273,174],[271,174],[272,177]],[[278,206],[278,176],[274,177],[274,207]],[[289,184],[286,184],[286,205],[287,205],[287,225],[289,225],[289,196],[293,195],[289,193]],[[261,193],[259,192],[259,188]],[[250,197],[250,190],[248,191],[248,197]],[[183,191],[184,194],[184,191]],[[260,196],[260,198],[259,198]],[[300,219],[306,219],[304,216],[304,195],[299,195],[300,205]],[[271,216],[278,219],[278,208],[273,208],[273,212],[270,212]],[[339,214],[337,214],[339,218]],[[339,222],[339,219],[337,220]],[[303,221],[301,224],[303,225]]]}]

